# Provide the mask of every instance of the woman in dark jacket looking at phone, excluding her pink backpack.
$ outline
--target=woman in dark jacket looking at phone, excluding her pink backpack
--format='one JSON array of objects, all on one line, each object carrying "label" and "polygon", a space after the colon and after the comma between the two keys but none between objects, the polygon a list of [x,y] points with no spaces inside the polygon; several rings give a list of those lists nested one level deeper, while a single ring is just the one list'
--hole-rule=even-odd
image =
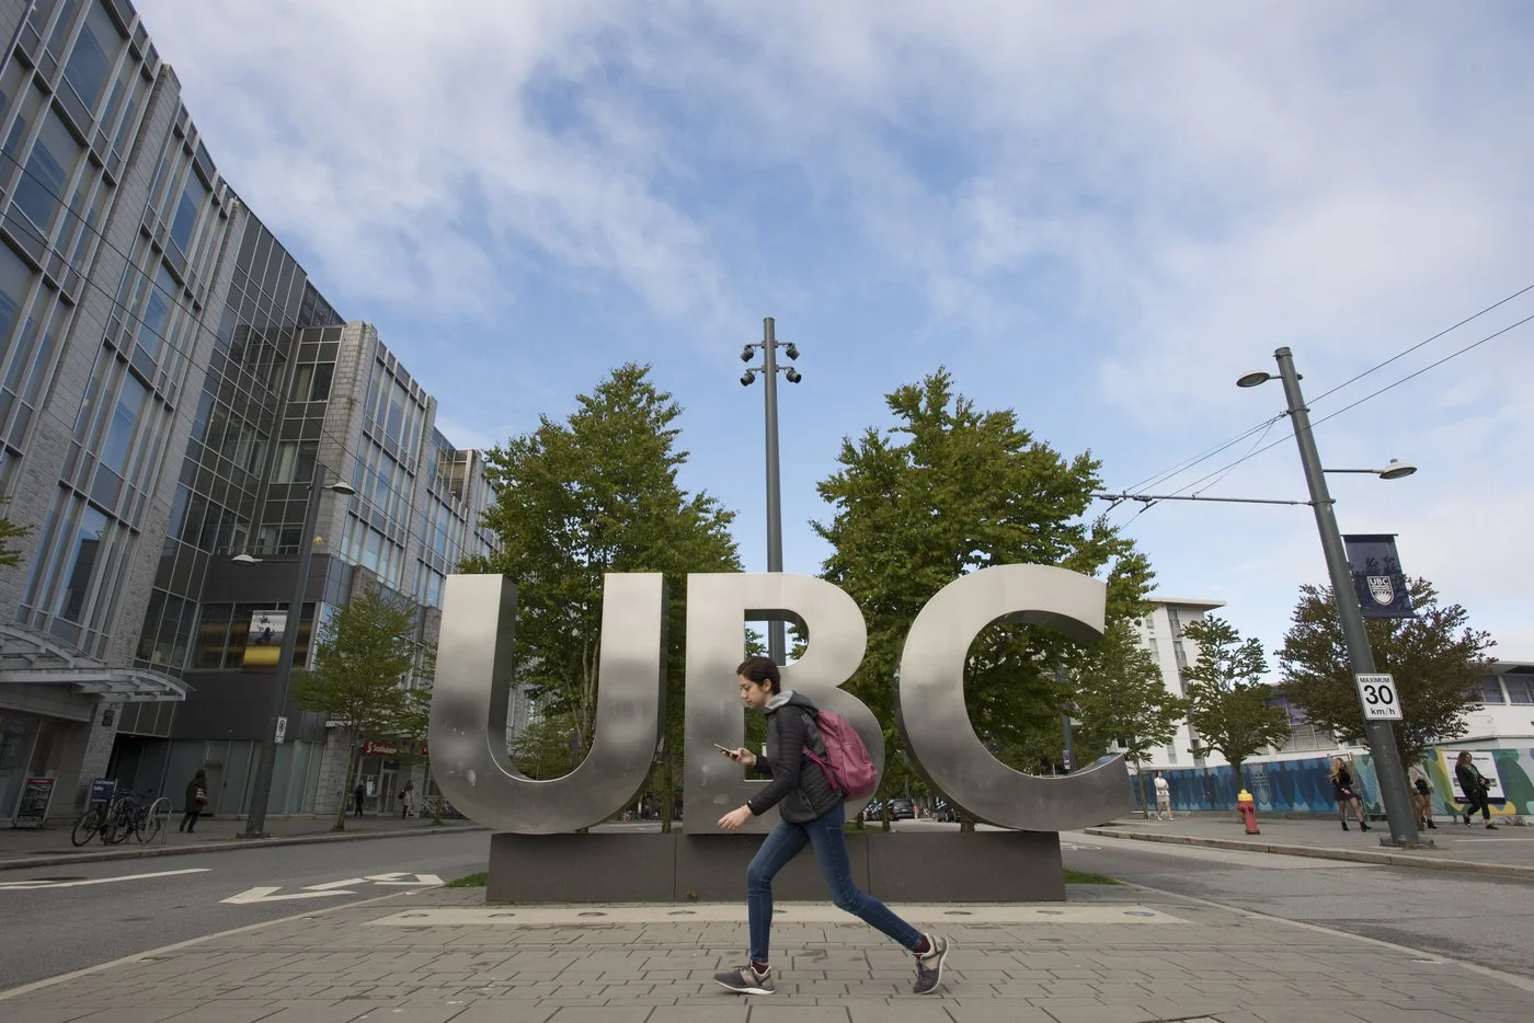
[{"label": "woman in dark jacket looking at phone, excluding her pink backpack", "polygon": [[713,974],[724,988],[739,994],[773,994],[769,965],[769,939],[772,931],[772,880],[788,860],[815,847],[815,859],[831,891],[838,908],[861,917],[870,926],[916,956],[916,994],[931,994],[943,977],[943,960],[948,957],[948,939],[937,934],[922,934],[897,917],[877,899],[858,890],[853,883],[851,862],[847,856],[847,834],[842,831],[845,808],[842,793],[831,784],[828,773],[805,756],[805,750],[825,759],[825,744],[815,725],[815,704],[804,695],[782,689],[778,666],[772,658],[747,658],[738,669],[736,684],[741,702],[750,710],[767,715],[767,745],[770,753],[756,755],[741,747],[721,752],[736,764],[752,767],[772,779],[761,793],[746,805],[719,817],[719,827],[735,831],[752,817],[759,817],[778,807],[778,827],[762,840],[761,848],[746,868],[746,906],[750,934],[750,962],[735,969]]}]

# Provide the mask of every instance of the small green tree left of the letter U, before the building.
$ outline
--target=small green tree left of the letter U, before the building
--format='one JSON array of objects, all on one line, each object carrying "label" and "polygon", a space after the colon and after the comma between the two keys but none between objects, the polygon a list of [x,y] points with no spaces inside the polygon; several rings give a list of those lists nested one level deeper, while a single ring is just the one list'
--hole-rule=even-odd
[{"label": "small green tree left of the letter U, before the building", "polygon": [[345,794],[354,784],[364,739],[399,730],[403,681],[417,653],[414,635],[416,612],[403,600],[379,586],[364,586],[321,624],[314,670],[295,679],[298,706],[325,715],[347,733],[350,752],[336,831],[347,828]]}]

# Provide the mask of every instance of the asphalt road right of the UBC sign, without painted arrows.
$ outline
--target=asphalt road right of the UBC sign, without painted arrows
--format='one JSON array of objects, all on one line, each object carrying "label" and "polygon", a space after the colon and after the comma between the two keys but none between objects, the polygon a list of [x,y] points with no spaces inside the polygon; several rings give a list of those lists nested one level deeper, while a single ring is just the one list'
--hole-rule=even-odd
[{"label": "asphalt road right of the UBC sign, without painted arrows", "polygon": [[1534,977],[1534,883],[1063,834],[1065,865]]}]

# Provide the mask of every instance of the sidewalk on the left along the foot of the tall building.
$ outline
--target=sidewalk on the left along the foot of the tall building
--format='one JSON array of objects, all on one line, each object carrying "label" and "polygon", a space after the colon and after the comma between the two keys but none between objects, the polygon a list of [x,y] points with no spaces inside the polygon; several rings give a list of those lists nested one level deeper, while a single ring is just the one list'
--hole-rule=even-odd
[{"label": "sidewalk on the left along the foot of the tall building", "polygon": [[[192,834],[176,831],[179,822],[181,814],[172,814],[170,827],[155,837],[153,842],[144,845],[140,845],[138,839],[132,837],[121,845],[104,845],[101,837],[97,836],[78,848],[69,840],[74,821],[63,821],[46,828],[5,828],[0,830],[0,870],[138,859],[144,856],[175,856],[179,853],[216,853],[250,847],[250,839],[239,837],[239,833],[245,830],[244,817],[202,817],[196,822],[196,831]],[[430,816],[399,817],[377,814],[347,817],[345,831],[331,831],[330,828],[334,824],[336,817],[333,814],[322,817],[267,817],[267,831],[272,837],[261,839],[261,844],[298,845],[302,842],[379,839],[480,827],[472,821],[463,819],[443,819],[442,827],[434,827]]]}]

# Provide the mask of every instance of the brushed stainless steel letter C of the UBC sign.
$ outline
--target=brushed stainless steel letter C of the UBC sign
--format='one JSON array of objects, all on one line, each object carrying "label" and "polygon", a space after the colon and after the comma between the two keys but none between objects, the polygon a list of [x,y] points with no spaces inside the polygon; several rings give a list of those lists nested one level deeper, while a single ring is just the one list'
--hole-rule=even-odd
[{"label": "brushed stainless steel letter C of the UBC sign", "polygon": [[1092,641],[1103,635],[1106,598],[1103,583],[1078,572],[1000,564],[954,580],[916,617],[900,655],[896,718],[911,759],[951,802],[1026,831],[1092,827],[1129,808],[1121,756],[1062,778],[1022,775],[991,756],[963,702],[965,658],[988,624],[1028,623]]}]

